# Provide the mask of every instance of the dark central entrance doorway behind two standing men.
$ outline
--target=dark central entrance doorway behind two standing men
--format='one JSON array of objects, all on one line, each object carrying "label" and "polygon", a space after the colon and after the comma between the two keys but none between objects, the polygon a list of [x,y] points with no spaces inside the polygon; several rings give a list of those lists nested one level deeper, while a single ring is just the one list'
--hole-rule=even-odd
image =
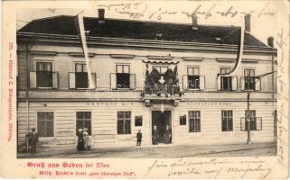
[{"label": "dark central entrance doorway behind two standing men", "polygon": [[[159,135],[156,139],[157,143],[165,143],[164,134],[167,125],[169,126],[169,129],[172,129],[171,111],[152,111],[152,134],[154,134],[154,126],[156,126]],[[170,137],[169,143],[172,143],[172,135]]]}]

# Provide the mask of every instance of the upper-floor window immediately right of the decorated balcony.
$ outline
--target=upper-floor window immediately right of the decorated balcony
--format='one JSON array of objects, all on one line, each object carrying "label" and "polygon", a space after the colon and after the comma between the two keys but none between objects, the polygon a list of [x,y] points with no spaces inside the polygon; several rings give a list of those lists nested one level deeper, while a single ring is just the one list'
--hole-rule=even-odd
[{"label": "upper-floor window immediately right of the decorated balcony", "polygon": [[189,89],[200,89],[200,68],[199,67],[188,67],[187,68],[187,79]]}]

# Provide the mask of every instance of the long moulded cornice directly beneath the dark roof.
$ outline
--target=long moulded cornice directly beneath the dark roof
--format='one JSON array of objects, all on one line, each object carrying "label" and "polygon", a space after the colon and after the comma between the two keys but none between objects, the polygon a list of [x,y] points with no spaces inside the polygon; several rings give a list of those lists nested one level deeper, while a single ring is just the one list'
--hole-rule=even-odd
[{"label": "long moulded cornice directly beneath the dark roof", "polygon": [[[79,36],[42,34],[33,32],[17,32],[18,43],[30,44],[51,44],[80,46]],[[182,51],[204,51],[220,53],[237,53],[238,45],[183,42],[183,41],[163,41],[163,40],[134,40],[119,38],[87,37],[89,47],[113,47],[113,48],[132,48],[132,49],[171,49]],[[244,46],[245,54],[275,54],[276,49],[268,47]]]}]

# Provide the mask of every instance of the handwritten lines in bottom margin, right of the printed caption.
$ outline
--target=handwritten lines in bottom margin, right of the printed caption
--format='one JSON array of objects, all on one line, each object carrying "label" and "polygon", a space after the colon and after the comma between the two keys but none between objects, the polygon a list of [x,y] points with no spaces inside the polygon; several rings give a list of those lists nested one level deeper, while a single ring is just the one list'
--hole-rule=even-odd
[{"label": "handwritten lines in bottom margin, right of the printed caption", "polygon": [[259,175],[267,178],[272,172],[271,166],[265,161],[253,157],[253,160],[234,160],[232,158],[218,160],[189,160],[180,158],[173,161],[154,160],[154,163],[147,168],[145,176],[154,175],[158,172],[165,172],[171,176],[190,176],[194,178],[207,177],[218,178],[219,175],[229,174],[232,178],[244,178],[248,175]]}]

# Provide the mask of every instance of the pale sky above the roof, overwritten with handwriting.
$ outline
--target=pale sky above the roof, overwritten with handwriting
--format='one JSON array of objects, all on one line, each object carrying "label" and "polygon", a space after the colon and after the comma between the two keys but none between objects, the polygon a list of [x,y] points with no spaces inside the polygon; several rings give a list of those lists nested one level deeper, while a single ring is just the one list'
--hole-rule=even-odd
[{"label": "pale sky above the roof, overwritten with handwriting", "polygon": [[[98,17],[98,8],[105,9],[105,18],[164,23],[192,23],[190,14],[199,24],[240,26],[244,15],[251,14],[251,33],[267,44],[276,39],[276,5],[271,1],[80,1],[79,4],[50,4],[45,9],[17,11],[17,30],[34,19],[56,15],[80,14]],[[35,2],[36,3],[36,2]],[[65,2],[62,2],[65,3]],[[36,6],[36,5],[35,5]],[[81,7],[81,8],[80,8]]]}]

